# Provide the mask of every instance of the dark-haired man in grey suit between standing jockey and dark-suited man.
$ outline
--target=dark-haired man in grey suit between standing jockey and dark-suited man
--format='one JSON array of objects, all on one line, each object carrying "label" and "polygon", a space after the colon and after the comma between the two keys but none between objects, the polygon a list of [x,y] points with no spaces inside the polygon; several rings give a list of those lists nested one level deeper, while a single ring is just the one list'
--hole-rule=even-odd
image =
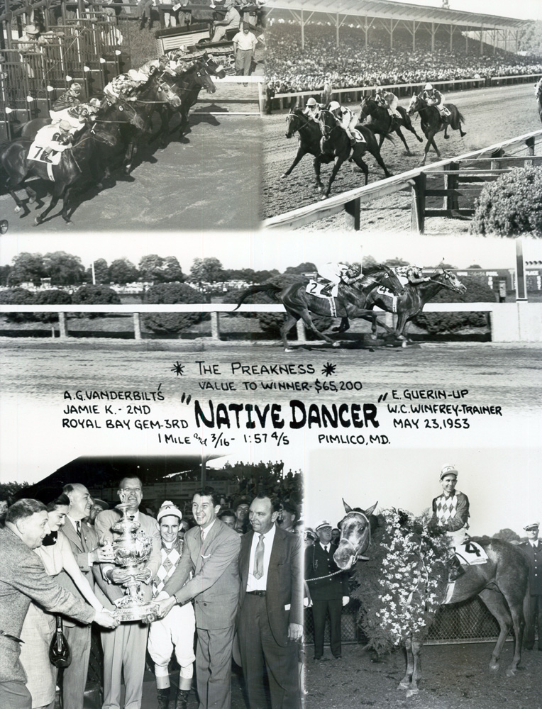
[{"label": "dark-haired man in grey suit between standing jockey and dark-suited man", "polygon": [[[199,709],[229,709],[231,654],[239,599],[240,536],[218,519],[220,505],[211,488],[192,498],[197,527],[184,535],[177,569],[162,591],[161,615],[194,600],[198,644],[196,675]],[[188,581],[189,574],[194,576]]]}]

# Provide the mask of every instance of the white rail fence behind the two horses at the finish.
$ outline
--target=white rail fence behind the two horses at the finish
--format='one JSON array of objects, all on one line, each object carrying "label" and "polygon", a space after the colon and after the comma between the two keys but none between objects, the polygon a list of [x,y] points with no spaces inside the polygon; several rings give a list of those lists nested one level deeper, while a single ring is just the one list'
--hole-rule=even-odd
[{"label": "white rail fence behind the two horses at the finish", "polygon": [[[210,313],[211,340],[221,340],[221,313],[284,313],[284,306],[255,303],[236,308],[235,303],[197,303],[172,305],[6,305],[0,304],[0,313],[58,313],[60,338],[69,337],[68,315],[70,313],[130,313],[133,316],[133,332],[136,340],[142,339],[142,313]],[[367,311],[369,312],[369,311]],[[375,308],[377,314],[391,318]],[[492,342],[542,342],[542,303],[427,303],[424,313],[487,313],[490,320]],[[302,320],[297,323],[297,341],[306,342]]]}]

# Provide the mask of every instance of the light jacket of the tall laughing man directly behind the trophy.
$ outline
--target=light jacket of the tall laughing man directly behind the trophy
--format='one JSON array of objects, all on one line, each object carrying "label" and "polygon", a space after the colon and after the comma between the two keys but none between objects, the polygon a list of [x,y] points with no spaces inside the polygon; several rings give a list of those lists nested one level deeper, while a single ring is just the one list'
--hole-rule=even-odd
[{"label": "light jacket of the tall laughing man directly behind the trophy", "polygon": [[[94,520],[94,530],[96,530],[98,534],[100,543],[114,541],[115,535],[111,532],[111,527],[121,519],[121,516],[121,510],[118,509],[104,510],[104,512],[99,513],[96,520]],[[158,529],[158,523],[155,518],[150,517],[150,515],[144,515],[143,512],[139,513],[139,522],[141,525],[140,529],[146,532],[153,540],[153,549],[150,552],[150,557],[145,568],[150,569],[150,579],[154,579],[162,563],[162,540],[160,539],[160,530]],[[101,566],[104,566],[104,564],[94,564],[92,566],[94,581],[96,581],[94,593],[96,593],[96,596],[106,608],[113,610],[116,608],[114,601],[124,596],[124,590],[122,586],[109,584],[109,582],[104,579],[101,573]],[[106,564],[105,566],[111,566],[111,564]],[[143,591],[145,601],[150,601],[153,597],[150,581],[148,584],[141,584],[141,590]]]}]

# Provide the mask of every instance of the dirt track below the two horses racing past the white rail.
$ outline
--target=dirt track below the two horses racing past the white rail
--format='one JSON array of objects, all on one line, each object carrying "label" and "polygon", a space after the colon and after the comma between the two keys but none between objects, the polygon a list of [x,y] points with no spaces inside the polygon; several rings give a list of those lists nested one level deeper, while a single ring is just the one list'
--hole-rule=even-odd
[{"label": "dirt track below the two horses racing past the white rail", "polygon": [[[320,381],[361,381],[364,401],[376,401],[384,391],[397,389],[462,389],[469,390],[468,403],[502,406],[503,411],[529,414],[541,398],[541,348],[531,344],[497,343],[427,343],[414,349],[336,350],[321,345],[307,345],[292,353],[280,345],[211,344],[201,340],[16,340],[0,339],[2,393],[6,396],[51,398],[67,387],[81,389],[140,389],[162,382],[167,398],[179,397],[182,391],[207,396],[199,388],[202,377],[195,362],[218,364],[220,376],[206,376],[208,381],[231,381],[234,389],[224,398],[253,401],[255,394],[245,389],[243,380],[272,382],[307,381],[305,400],[359,400],[359,391],[317,391]],[[175,376],[176,361],[187,364],[182,377]],[[311,376],[277,376],[253,372],[242,376],[240,369],[232,374],[231,363],[260,367],[273,364],[294,366],[311,363]],[[326,378],[322,367],[336,365],[333,376]],[[513,373],[514,376],[511,376]],[[338,385],[340,386],[340,385]],[[218,394],[218,392],[216,392]],[[212,396],[212,393],[209,393]],[[257,396],[269,397],[264,391]],[[299,395],[298,395],[299,396]],[[273,400],[287,401],[292,391],[274,390]]]}]

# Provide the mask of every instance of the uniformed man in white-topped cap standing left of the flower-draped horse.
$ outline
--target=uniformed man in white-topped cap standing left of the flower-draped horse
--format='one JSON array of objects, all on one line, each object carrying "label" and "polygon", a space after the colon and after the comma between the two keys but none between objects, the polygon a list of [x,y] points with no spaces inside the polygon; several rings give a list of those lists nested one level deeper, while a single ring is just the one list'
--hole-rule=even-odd
[{"label": "uniformed man in white-topped cap standing left of the flower-draped horse", "polygon": [[[326,616],[329,613],[331,635],[331,654],[341,658],[341,609],[349,598],[348,574],[336,574],[338,566],[333,560],[337,546],[331,543],[331,524],[322,520],[316,525],[319,541],[305,552],[305,579],[309,582],[312,598],[312,617],[314,619],[314,659],[323,656],[323,633],[326,628]],[[319,579],[328,576],[327,579]],[[313,581],[311,579],[319,579]]]}]

